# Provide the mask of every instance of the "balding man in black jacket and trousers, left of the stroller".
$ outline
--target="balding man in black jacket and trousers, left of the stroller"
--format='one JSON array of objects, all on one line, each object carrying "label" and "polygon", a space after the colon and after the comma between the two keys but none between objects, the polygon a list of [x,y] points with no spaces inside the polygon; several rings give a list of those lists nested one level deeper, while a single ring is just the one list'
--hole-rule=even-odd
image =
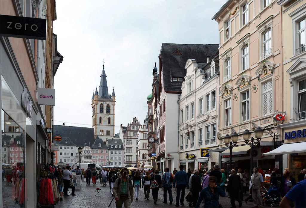
[{"label": "balding man in black jacket and trousers, left of the stroller", "polygon": [[[238,169],[238,172],[239,170],[241,169]],[[236,174],[235,169],[231,170],[230,173],[231,175],[229,177],[229,181],[227,182],[226,191],[230,193],[230,203],[232,207],[236,207],[235,199],[238,201],[239,207],[241,207],[242,202],[241,202],[241,199],[239,198],[239,193],[238,193],[238,192],[242,192],[242,187],[241,187],[241,182],[240,182],[241,179],[240,179],[240,176]]]}]

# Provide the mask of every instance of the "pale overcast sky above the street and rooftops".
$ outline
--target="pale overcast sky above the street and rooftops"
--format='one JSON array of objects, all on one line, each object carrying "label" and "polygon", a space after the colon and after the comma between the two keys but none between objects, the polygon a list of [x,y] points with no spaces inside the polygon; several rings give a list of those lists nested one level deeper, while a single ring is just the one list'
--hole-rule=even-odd
[{"label": "pale overcast sky above the street and rooftops", "polygon": [[92,127],[91,97],[105,61],[116,94],[115,133],[137,117],[143,124],[152,69],[162,43],[218,44],[211,20],[226,0],[56,1],[58,52],[54,124]]}]

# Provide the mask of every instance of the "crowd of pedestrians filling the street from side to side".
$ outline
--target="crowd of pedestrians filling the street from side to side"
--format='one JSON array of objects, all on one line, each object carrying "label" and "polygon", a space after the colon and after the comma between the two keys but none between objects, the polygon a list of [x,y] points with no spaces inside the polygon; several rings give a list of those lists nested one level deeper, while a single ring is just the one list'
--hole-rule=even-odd
[{"label": "crowd of pedestrians filling the street from side to side", "polygon": [[[262,168],[255,167],[251,177],[248,175],[248,170],[236,167],[230,170],[230,176],[226,179],[225,170],[214,166],[214,169],[204,170],[204,173],[199,170],[184,170],[184,166],[179,166],[179,171],[174,168],[171,173],[169,168],[165,168],[164,173],[159,169],[152,168],[147,170],[121,168],[110,170],[96,170],[95,168],[87,170],[80,169],[77,166],[76,175],[81,175],[82,180],[86,178],[86,185],[96,186],[100,181],[100,185],[110,187],[110,193],[114,196],[116,207],[130,207],[134,200],[140,197],[139,190],[143,188],[144,199],[150,199],[150,189],[154,204],[158,201],[159,189],[163,190],[162,203],[172,204],[174,199],[172,193],[176,193],[175,206],[184,205],[184,201],[188,202],[190,207],[222,207],[219,203],[219,197],[226,196],[229,193],[231,207],[236,207],[235,201],[239,207],[242,202],[248,203],[252,198],[254,206],[263,207],[264,202],[267,202],[267,197],[263,194],[264,177],[270,178],[270,189],[274,191],[275,203],[280,207],[306,207],[306,169],[298,175],[299,182],[296,182],[292,177],[292,172],[289,168],[285,168],[283,174],[279,173],[278,168],[274,168],[271,176],[265,176]],[[69,166],[58,169],[58,189],[60,191],[61,200],[63,195],[69,196],[67,190],[72,189],[71,195],[75,195],[72,180],[72,171]],[[290,182],[290,183],[289,183]],[[248,185],[249,184],[249,185]],[[63,188],[64,187],[64,188]],[[247,193],[249,188],[249,196],[243,198],[243,194]],[[99,188],[97,188],[99,189]],[[173,190],[174,189],[174,190]],[[270,192],[270,189],[268,192]],[[185,195],[185,191],[187,194]],[[63,192],[64,191],[64,192]],[[174,191],[174,192],[172,192]],[[272,191],[270,193],[272,193]],[[168,194],[167,194],[168,193]],[[167,197],[168,195],[168,197]],[[265,198],[266,197],[266,198]],[[282,198],[282,199],[281,199]],[[270,200],[270,199],[269,199]],[[150,206],[150,202],[147,202]]]}]

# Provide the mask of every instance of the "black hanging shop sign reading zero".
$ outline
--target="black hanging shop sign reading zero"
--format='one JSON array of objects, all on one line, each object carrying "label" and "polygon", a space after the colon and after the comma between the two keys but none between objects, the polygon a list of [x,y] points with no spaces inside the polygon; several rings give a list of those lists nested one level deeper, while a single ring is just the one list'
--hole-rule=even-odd
[{"label": "black hanging shop sign reading zero", "polygon": [[0,33],[5,37],[46,40],[47,19],[0,15]]}]

